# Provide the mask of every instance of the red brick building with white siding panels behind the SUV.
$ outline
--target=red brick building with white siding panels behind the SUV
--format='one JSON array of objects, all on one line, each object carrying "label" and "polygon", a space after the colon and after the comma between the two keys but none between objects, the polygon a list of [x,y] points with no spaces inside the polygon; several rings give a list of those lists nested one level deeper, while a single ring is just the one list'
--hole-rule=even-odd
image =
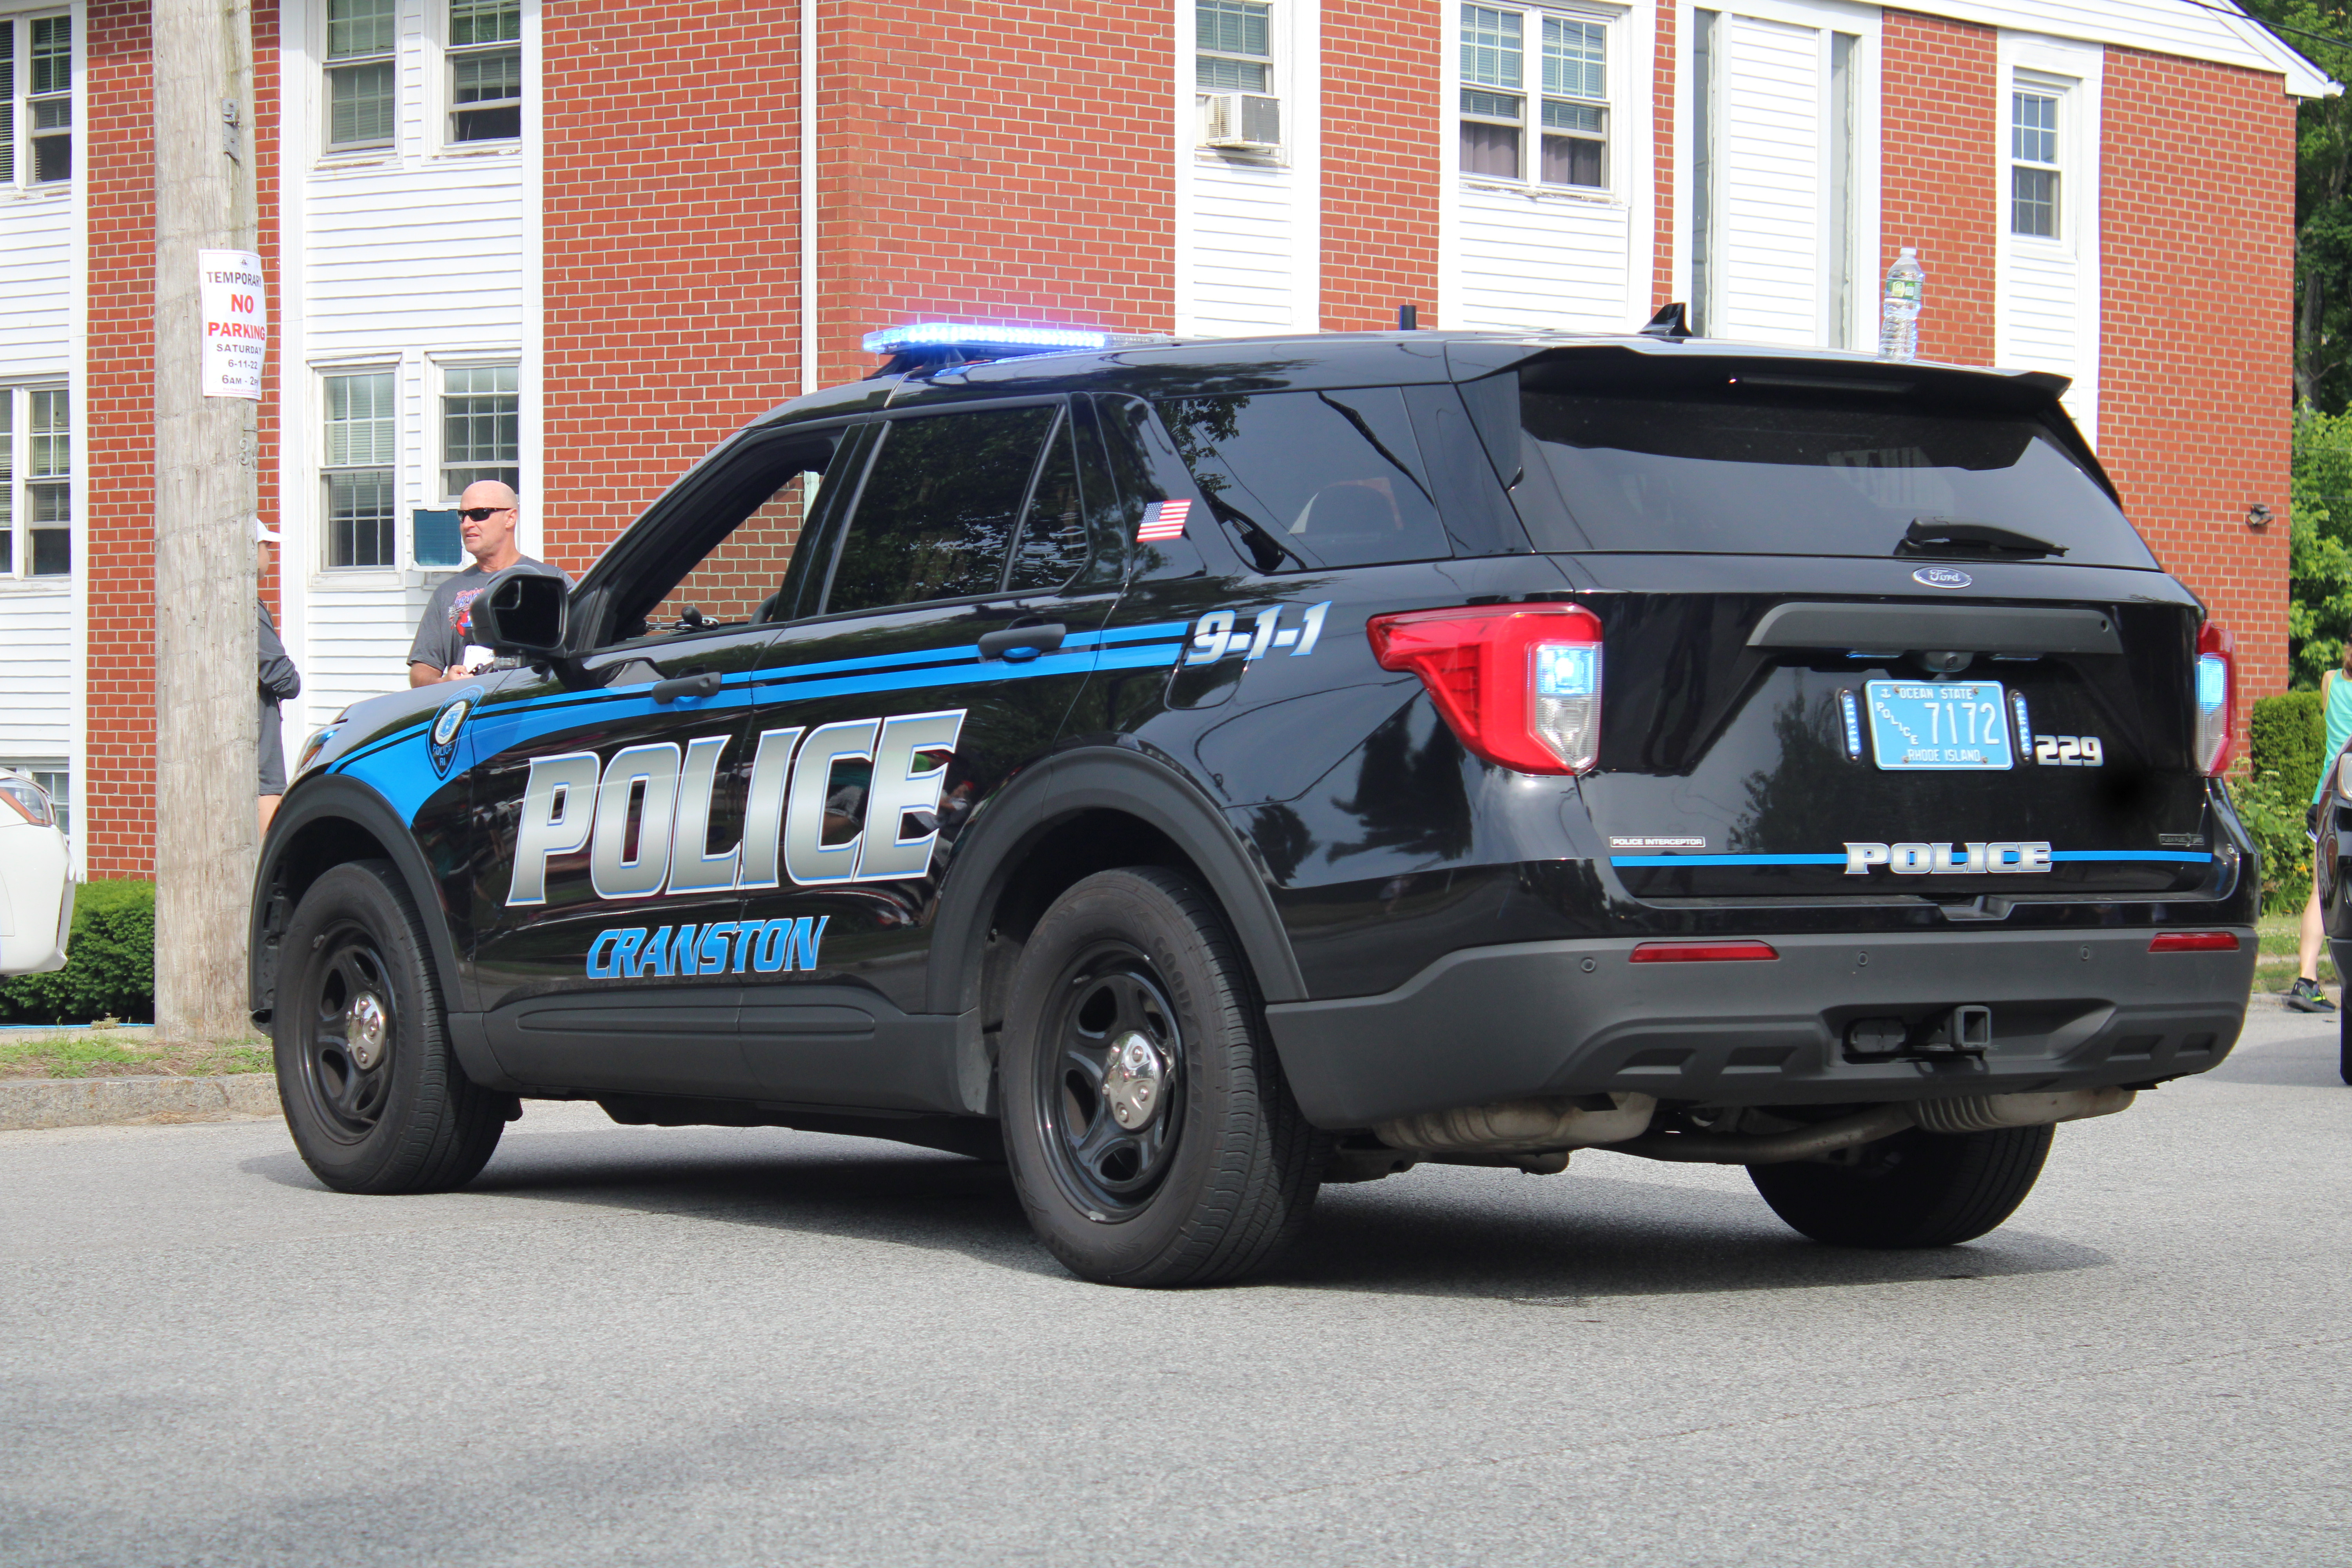
[{"label": "red brick building with white siding panels behind the SUV", "polygon": [[[0,0],[0,762],[151,867],[143,0]],[[2286,682],[2296,96],[2204,0],[254,0],[287,738],[405,682],[449,503],[579,569],[873,327],[1423,324],[2056,369],[2159,557]]]}]

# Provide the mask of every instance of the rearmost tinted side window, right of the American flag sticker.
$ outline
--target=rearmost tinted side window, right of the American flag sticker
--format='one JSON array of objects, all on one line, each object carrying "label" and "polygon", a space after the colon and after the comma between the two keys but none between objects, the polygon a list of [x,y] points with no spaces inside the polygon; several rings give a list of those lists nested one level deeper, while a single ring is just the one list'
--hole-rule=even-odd
[{"label": "rearmost tinted side window, right of the American flag sticker", "polygon": [[1261,571],[1451,555],[1397,388],[1183,397],[1160,414]]}]

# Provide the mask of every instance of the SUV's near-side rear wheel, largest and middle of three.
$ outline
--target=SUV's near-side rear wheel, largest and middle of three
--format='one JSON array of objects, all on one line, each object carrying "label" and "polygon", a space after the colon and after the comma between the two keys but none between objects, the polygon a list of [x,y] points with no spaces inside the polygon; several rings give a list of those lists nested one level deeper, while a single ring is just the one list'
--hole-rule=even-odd
[{"label": "SUV's near-side rear wheel, largest and middle of three", "polygon": [[1223,917],[1176,872],[1096,872],[1054,900],[997,1074],[1021,1206],[1080,1279],[1225,1284],[1305,1227],[1329,1138],[1291,1100]]}]

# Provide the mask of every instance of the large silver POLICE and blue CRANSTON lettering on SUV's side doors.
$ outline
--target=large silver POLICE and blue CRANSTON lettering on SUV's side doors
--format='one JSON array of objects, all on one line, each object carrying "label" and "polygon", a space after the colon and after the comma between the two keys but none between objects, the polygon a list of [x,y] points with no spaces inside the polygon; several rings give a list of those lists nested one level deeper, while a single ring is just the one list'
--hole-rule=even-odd
[{"label": "large silver POLICE and blue CRANSTON lettering on SUV's side doors", "polygon": [[[920,877],[931,867],[938,839],[931,813],[938,811],[948,755],[962,726],[964,710],[955,708],[821,724],[807,738],[797,724],[764,731],[743,795],[743,837],[731,849],[710,849],[710,795],[734,736],[694,736],[684,748],[675,741],[626,745],[602,764],[595,752],[532,757],[506,903],[546,903],[548,860],[581,849],[588,851],[597,898],[771,889],[786,877],[797,886]],[[844,762],[873,764],[861,813],[828,802],[833,769]],[[837,825],[844,816],[863,816],[863,825],[826,844],[828,804]],[[908,835],[908,818],[917,818],[915,835]],[[668,940],[675,945],[694,926],[682,926]],[[710,931],[701,938],[706,947]],[[597,943],[604,938],[621,940],[604,931]],[[652,940],[630,947],[630,961],[637,952],[649,954]],[[760,947],[748,954],[757,961]],[[816,936],[807,940],[807,954],[814,964]],[[736,973],[743,957],[736,954]],[[680,973],[715,971],[696,957],[696,969]]]}]

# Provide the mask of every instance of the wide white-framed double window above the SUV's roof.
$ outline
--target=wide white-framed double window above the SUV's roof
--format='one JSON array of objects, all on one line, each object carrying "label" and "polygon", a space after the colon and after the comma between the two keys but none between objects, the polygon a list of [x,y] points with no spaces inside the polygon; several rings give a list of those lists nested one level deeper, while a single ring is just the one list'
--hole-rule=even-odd
[{"label": "wide white-framed double window above the SUV's roof", "polygon": [[1463,5],[1461,78],[1463,174],[1609,186],[1606,21]]}]

